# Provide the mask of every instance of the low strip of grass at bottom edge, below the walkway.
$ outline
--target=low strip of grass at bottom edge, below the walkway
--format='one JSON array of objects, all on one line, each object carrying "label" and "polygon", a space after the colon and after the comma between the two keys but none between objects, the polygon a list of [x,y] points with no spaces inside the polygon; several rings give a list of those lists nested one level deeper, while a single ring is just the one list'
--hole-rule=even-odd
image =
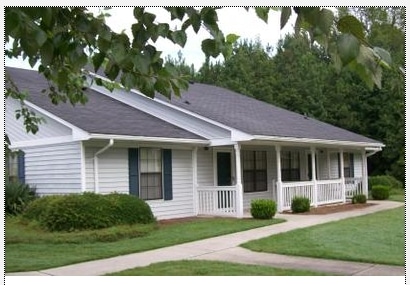
[{"label": "low strip of grass at bottom edge, below the walkway", "polygon": [[108,274],[111,276],[323,276],[307,270],[279,269],[269,266],[219,261],[167,261]]}]

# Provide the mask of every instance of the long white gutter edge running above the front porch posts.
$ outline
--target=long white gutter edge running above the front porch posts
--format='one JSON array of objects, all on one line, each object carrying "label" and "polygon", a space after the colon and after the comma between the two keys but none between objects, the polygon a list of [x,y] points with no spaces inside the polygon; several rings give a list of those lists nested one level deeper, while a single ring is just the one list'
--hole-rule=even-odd
[{"label": "long white gutter edge running above the front porch posts", "polygon": [[310,143],[310,144],[323,144],[323,145],[335,145],[335,146],[357,146],[365,148],[380,149],[384,147],[381,143],[366,143],[366,142],[352,142],[352,141],[337,141],[337,140],[324,140],[324,139],[309,139],[309,138],[295,138],[295,137],[276,137],[276,136],[254,136],[255,140],[262,141],[276,141],[276,142],[294,142],[294,143]]}]

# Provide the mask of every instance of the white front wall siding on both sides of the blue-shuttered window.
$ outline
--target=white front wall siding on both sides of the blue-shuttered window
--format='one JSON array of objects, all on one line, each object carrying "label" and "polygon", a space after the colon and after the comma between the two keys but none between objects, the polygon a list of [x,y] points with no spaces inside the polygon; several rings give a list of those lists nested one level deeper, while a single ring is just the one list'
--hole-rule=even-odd
[{"label": "white front wall siding on both sides of the blue-shuttered window", "polygon": [[[95,191],[94,154],[101,148],[85,148],[86,190]],[[129,193],[128,148],[110,148],[98,156],[99,192]],[[146,201],[157,219],[194,215],[192,150],[172,150],[173,199]]]}]

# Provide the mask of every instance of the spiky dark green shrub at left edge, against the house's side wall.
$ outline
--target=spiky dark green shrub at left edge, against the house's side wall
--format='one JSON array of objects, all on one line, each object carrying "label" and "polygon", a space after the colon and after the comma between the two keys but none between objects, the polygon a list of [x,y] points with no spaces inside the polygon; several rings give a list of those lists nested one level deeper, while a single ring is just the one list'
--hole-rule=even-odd
[{"label": "spiky dark green shrub at left edge, against the house's side wall", "polygon": [[27,184],[10,181],[4,185],[4,210],[6,214],[20,214],[35,198],[35,188],[30,188]]}]

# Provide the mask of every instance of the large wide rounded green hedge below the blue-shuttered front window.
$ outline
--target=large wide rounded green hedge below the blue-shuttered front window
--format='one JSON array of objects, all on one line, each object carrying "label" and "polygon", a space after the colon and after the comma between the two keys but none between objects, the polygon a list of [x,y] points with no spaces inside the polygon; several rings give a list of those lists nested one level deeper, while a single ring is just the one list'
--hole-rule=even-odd
[{"label": "large wide rounded green hedge below the blue-shuttered front window", "polygon": [[24,217],[49,231],[76,231],[155,222],[149,205],[131,195],[84,193],[47,196],[33,202]]}]

